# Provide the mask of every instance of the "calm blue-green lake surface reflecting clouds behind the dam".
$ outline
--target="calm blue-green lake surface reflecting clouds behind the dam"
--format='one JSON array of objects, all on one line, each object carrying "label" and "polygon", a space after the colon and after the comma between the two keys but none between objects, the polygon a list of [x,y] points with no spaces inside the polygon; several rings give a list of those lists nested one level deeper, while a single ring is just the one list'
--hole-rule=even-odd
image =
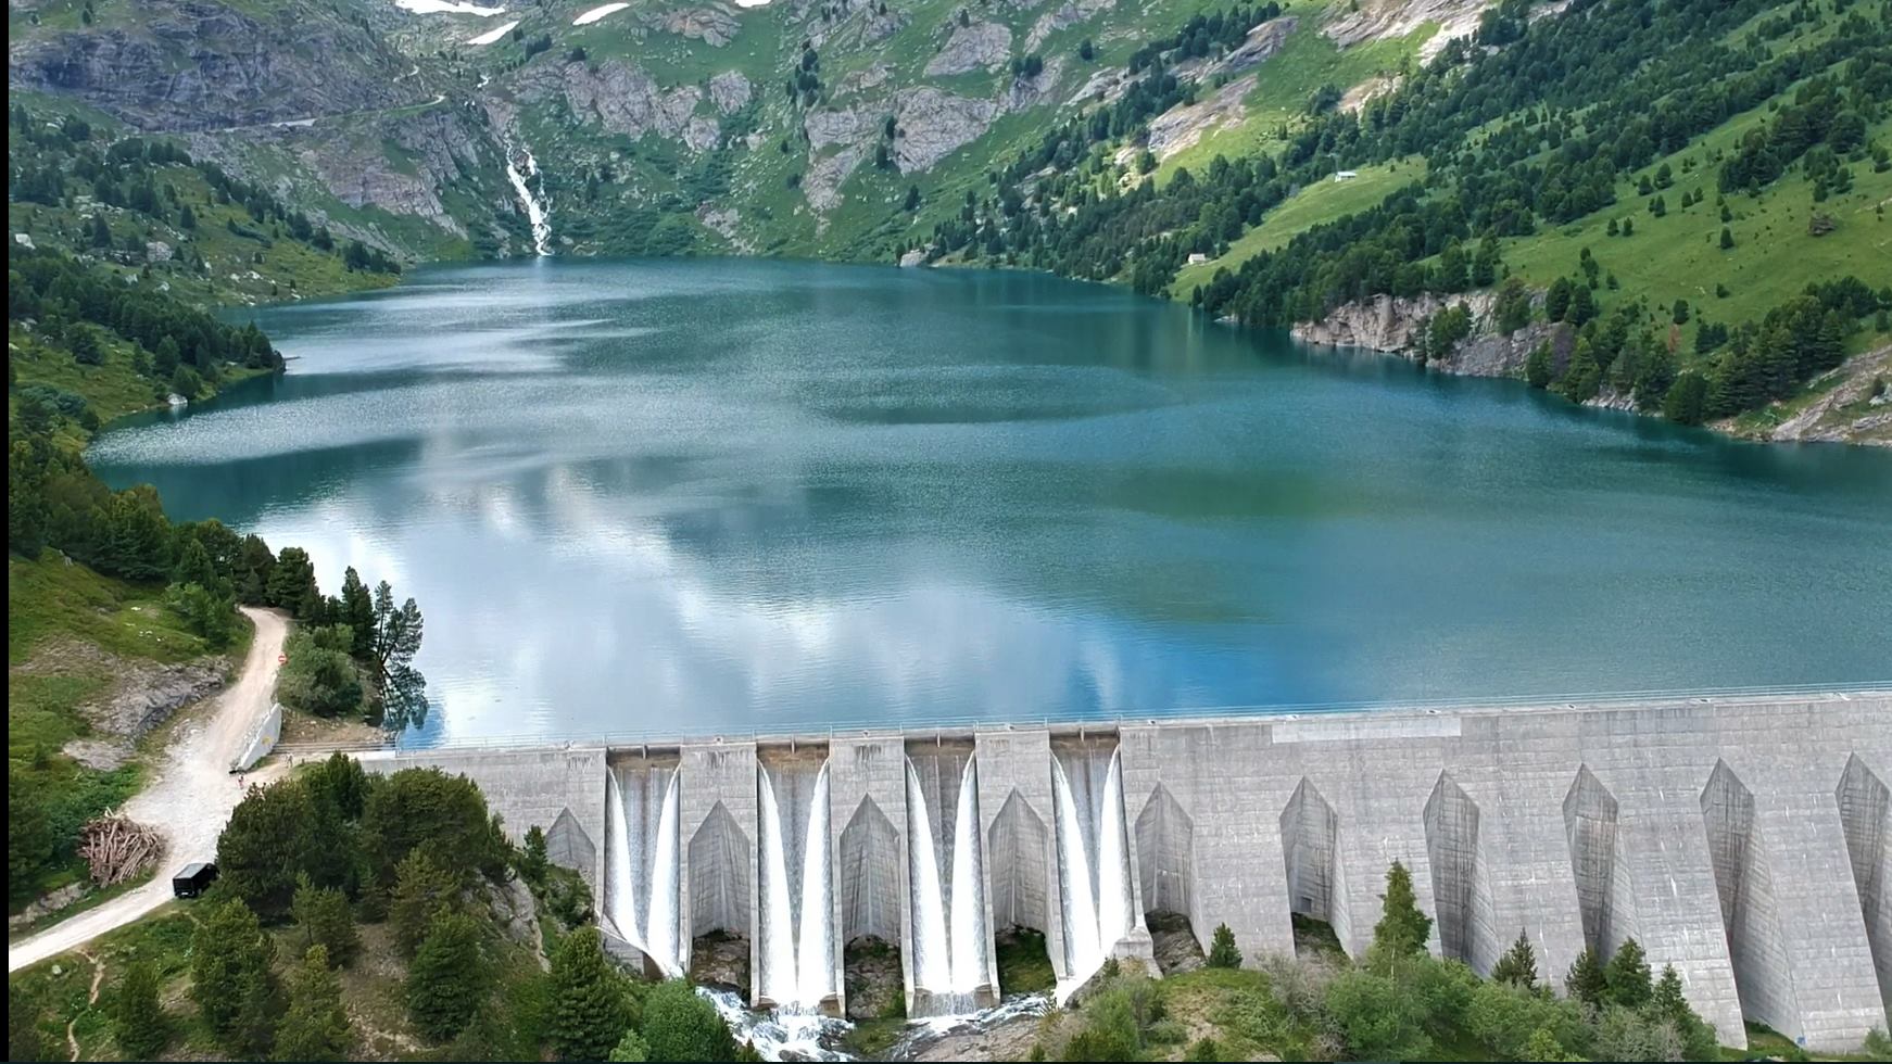
[{"label": "calm blue-green lake surface reflecting clouds behind the dam", "polygon": [[420,741],[1892,677],[1892,454],[1031,274],[435,268],[104,435],[426,612]]}]

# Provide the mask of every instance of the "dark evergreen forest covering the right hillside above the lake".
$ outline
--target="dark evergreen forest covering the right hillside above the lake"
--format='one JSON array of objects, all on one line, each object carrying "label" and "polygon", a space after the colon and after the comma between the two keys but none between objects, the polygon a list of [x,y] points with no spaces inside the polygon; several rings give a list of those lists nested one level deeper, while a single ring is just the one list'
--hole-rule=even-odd
[{"label": "dark evergreen forest covering the right hillside above the lake", "polygon": [[[1892,98],[1892,26],[1856,8],[1797,6],[1792,17],[1761,19],[1746,40],[1735,34],[1767,9],[1763,0],[1587,0],[1555,19],[1531,21],[1529,4],[1506,0],[1485,11],[1476,42],[1449,43],[1398,91],[1358,113],[1319,110],[1285,127],[1287,147],[1277,155],[1217,157],[1200,172],[1177,170],[1160,189],[1152,181],[1120,187],[1107,146],[1135,146],[1148,117],[1160,113],[1147,106],[1167,108],[1192,93],[1190,85],[1169,85],[1175,77],[1165,62],[1207,47],[1192,42],[1220,42],[1230,32],[1228,17],[1215,32],[1213,17],[1196,17],[1137,53],[1131,72],[1141,77],[1124,98],[1052,129],[1039,147],[988,174],[991,193],[969,191],[959,215],[937,225],[929,253],[1122,278],[1137,291],[1160,293],[1192,253],[1224,253],[1268,210],[1334,168],[1423,155],[1423,183],[1302,232],[1237,270],[1218,270],[1192,293],[1192,302],[1217,317],[1283,327],[1379,295],[1489,287],[1506,272],[1498,238],[1610,206],[1618,183],[1638,168],[1780,94],[1792,102],[1724,161],[1724,189],[1761,187],[1805,159],[1816,197],[1841,191],[1850,180],[1843,161],[1866,151],[1867,123]],[[1820,19],[1837,23],[1831,36],[1792,49],[1773,45]],[[1737,40],[1743,43],[1731,43]],[[1143,170],[1154,159],[1148,163]],[[1663,170],[1654,181],[1644,176],[1652,195],[1674,180]],[[1652,210],[1659,198],[1650,200]],[[1591,291],[1603,276],[1595,259],[1584,266],[1582,278],[1551,287],[1546,314],[1585,331],[1587,350],[1578,344],[1576,352],[1546,353],[1555,361],[1551,372],[1538,367],[1533,378],[1578,401],[1604,386],[1635,389],[1640,406],[1673,408],[1684,421],[1786,395],[1835,365],[1858,319],[1892,297],[1867,302],[1809,293],[1735,331],[1727,353],[1701,382],[1690,382],[1673,338],[1599,321]],[[1616,287],[1614,276],[1608,282]],[[1854,308],[1858,314],[1848,314]],[[1529,302],[1512,300],[1506,331],[1529,316]],[[1440,336],[1421,333],[1415,353],[1442,353],[1438,340],[1457,323],[1442,325]],[[1701,333],[1716,338],[1707,325]],[[1665,406],[1678,378],[1688,384]]]}]

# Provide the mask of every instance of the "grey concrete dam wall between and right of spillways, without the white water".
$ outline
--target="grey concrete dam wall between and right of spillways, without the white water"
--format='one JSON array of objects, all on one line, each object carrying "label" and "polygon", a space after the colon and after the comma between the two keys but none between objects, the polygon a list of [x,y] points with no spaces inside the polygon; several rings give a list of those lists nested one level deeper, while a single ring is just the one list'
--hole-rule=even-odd
[{"label": "grey concrete dam wall between and right of spillways, without the white water", "polygon": [[[1073,733],[942,739],[976,750],[990,928],[1042,930],[1060,979],[1050,758]],[[829,739],[836,943],[895,922],[910,939],[902,741],[937,739]],[[1733,1045],[1743,1015],[1814,1049],[1888,1021],[1892,692],[1173,720],[1078,745],[1112,741],[1139,911],[1184,913],[1203,945],[1226,922],[1256,962],[1294,949],[1305,911],[1364,951],[1400,860],[1430,947],[1481,971],[1519,934],[1550,981],[1585,943],[1635,937]],[[390,764],[471,773],[515,832],[560,818],[602,839],[602,750]],[[681,771],[691,934],[753,943],[755,747],[685,745]]]}]

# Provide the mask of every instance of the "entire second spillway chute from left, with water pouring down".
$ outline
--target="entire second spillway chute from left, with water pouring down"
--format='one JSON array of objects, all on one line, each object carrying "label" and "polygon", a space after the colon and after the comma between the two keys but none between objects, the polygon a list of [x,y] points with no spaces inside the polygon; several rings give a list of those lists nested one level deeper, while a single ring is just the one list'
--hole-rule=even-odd
[{"label": "entire second spillway chute from left, with water pouring down", "polygon": [[827,754],[759,752],[757,1005],[838,1011]]}]

